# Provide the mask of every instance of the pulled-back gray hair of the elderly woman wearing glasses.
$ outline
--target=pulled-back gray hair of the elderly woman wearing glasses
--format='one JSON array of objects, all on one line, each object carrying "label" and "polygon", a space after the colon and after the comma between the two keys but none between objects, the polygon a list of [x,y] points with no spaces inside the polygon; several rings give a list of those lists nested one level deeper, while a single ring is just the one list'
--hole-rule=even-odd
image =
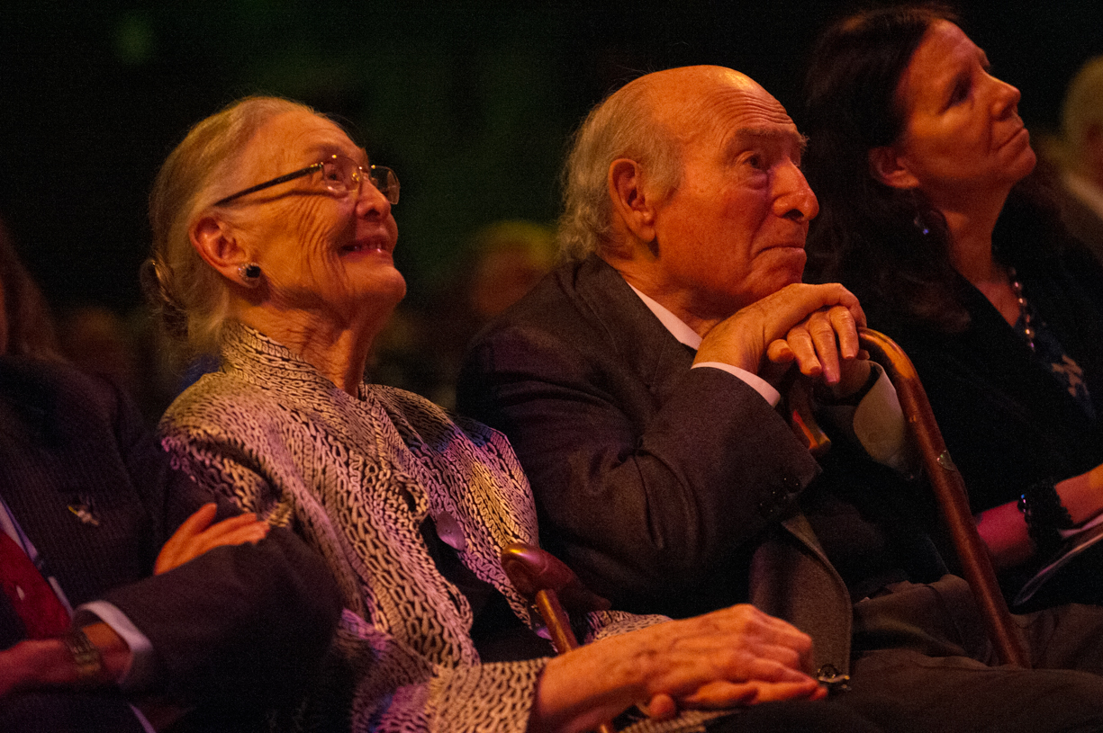
[{"label": "pulled-back gray hair of the elderly woman wearing glasses", "polygon": [[197,351],[217,351],[229,313],[228,284],[192,247],[189,228],[211,206],[221,182],[249,139],[269,120],[291,111],[317,114],[278,97],[246,97],[195,125],[169,153],[149,195],[153,229],[142,282],[165,331]]}]

